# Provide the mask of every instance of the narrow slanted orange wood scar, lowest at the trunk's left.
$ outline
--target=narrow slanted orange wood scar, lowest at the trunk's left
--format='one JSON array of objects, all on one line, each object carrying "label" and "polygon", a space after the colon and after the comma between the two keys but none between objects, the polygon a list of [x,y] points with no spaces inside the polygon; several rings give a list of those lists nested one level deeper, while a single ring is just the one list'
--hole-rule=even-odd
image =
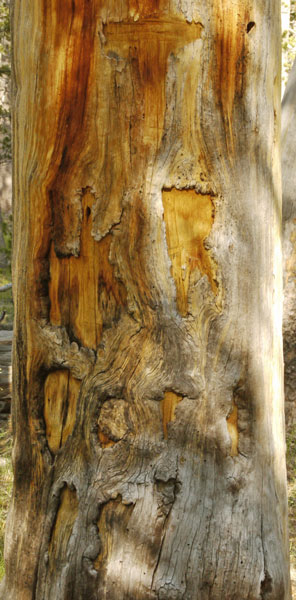
[{"label": "narrow slanted orange wood scar, lowest at the trunk's left", "polygon": [[51,572],[61,569],[67,555],[67,547],[78,515],[78,499],[75,491],[64,487],[60,506],[49,545],[49,568]]}]

